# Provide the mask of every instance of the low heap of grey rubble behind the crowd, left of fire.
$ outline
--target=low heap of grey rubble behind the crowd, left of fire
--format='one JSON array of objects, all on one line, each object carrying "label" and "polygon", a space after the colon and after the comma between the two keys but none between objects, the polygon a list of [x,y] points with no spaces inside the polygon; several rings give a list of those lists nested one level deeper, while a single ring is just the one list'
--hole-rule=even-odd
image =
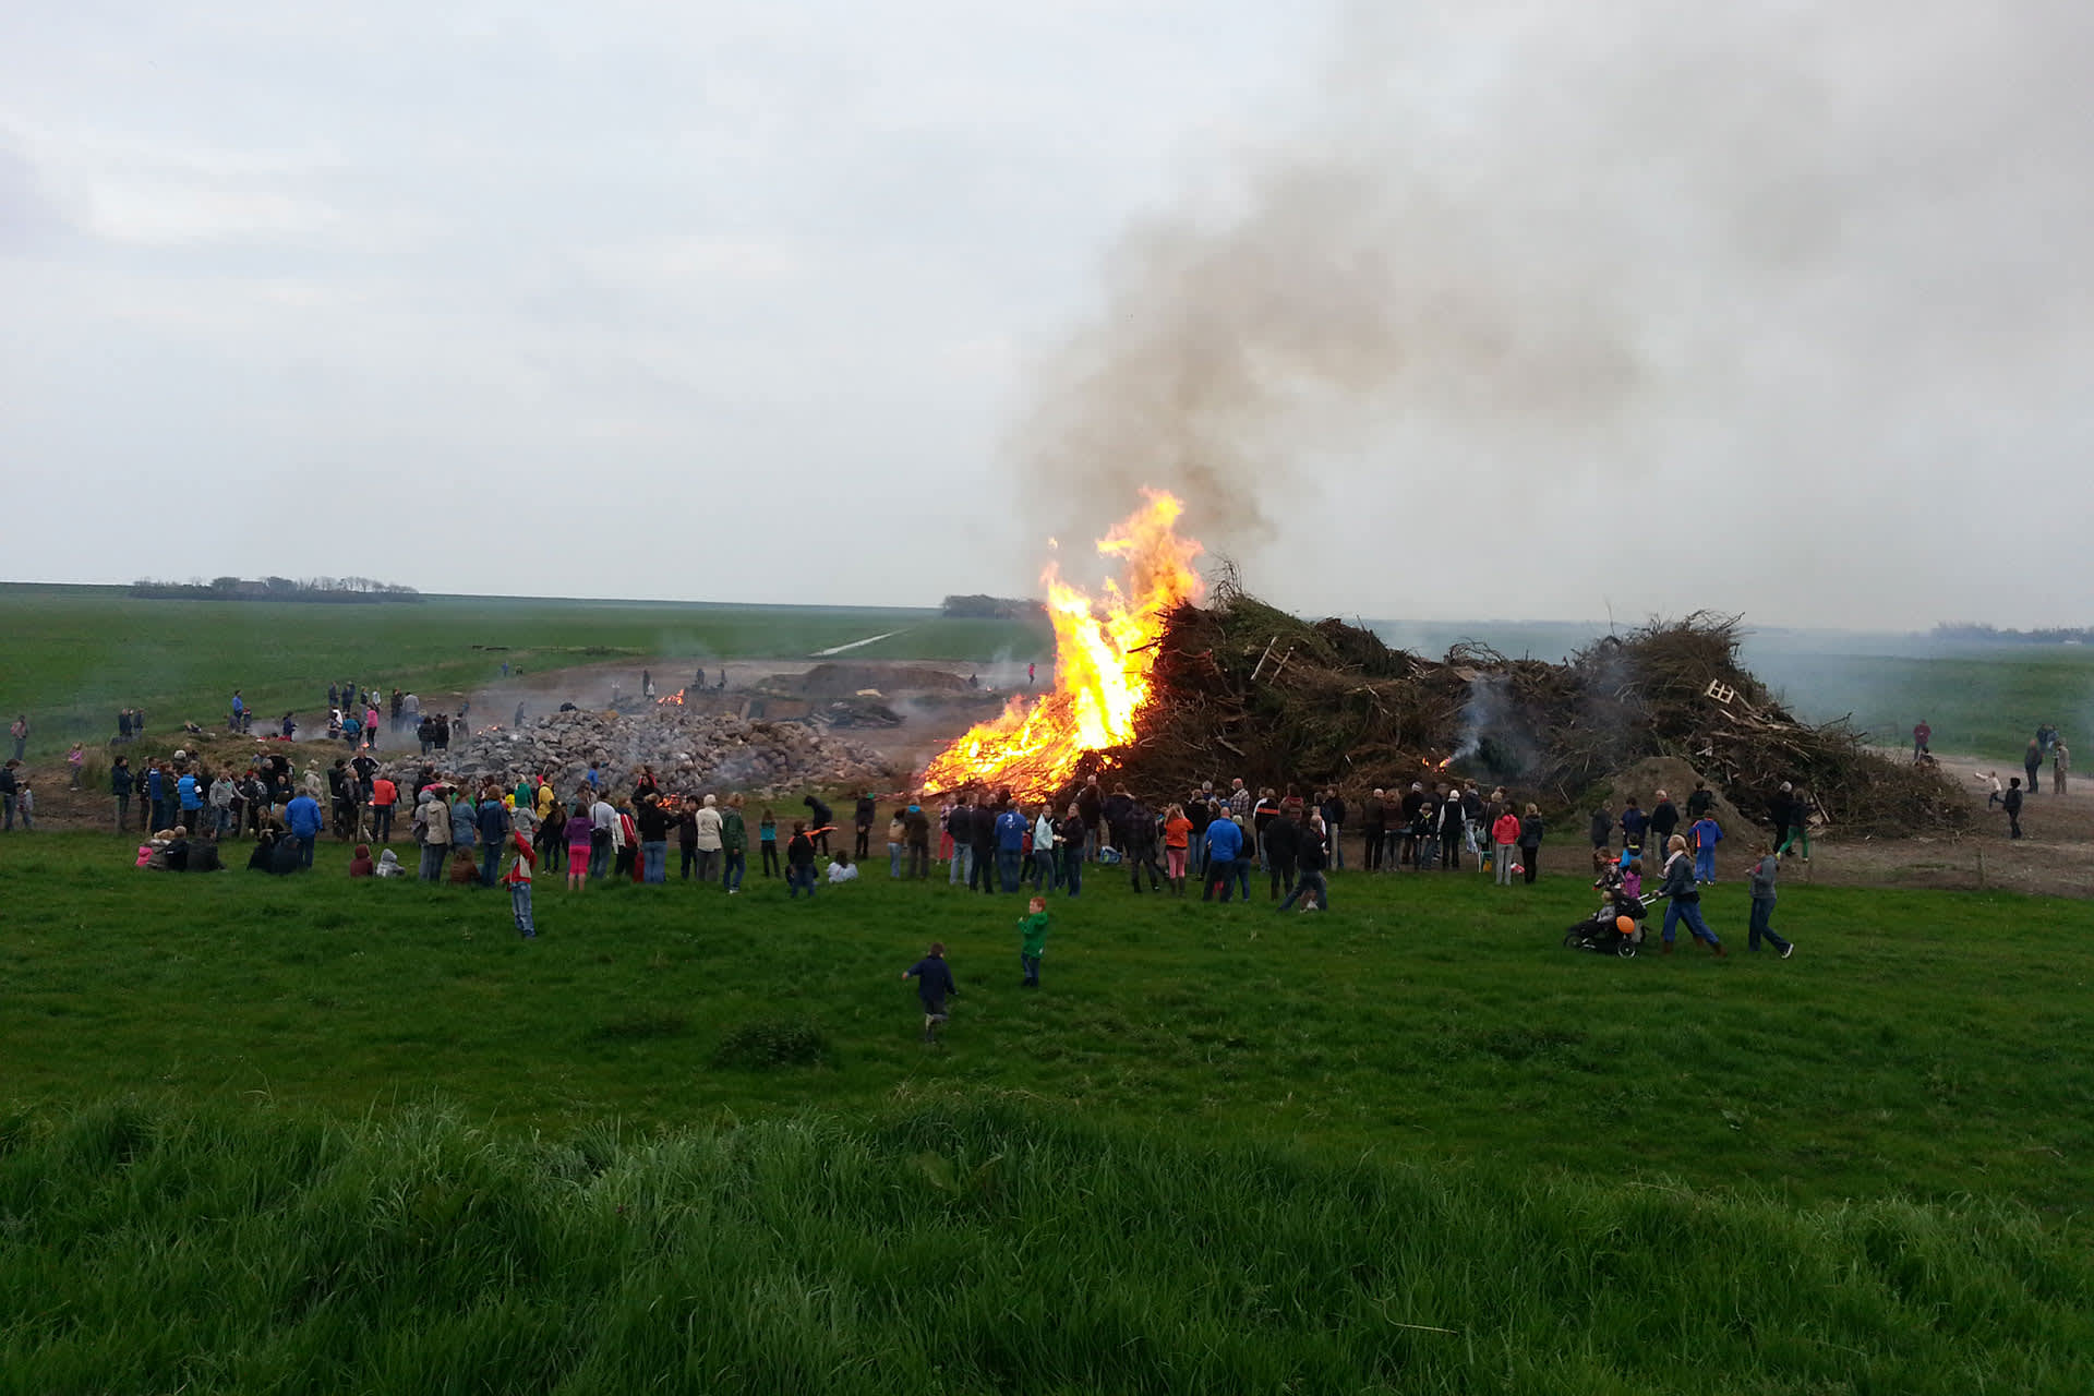
[{"label": "low heap of grey rubble behind the crowd, left of fire", "polygon": [[[907,772],[892,770],[877,751],[804,722],[704,714],[674,703],[647,712],[557,712],[524,726],[473,733],[431,760],[461,781],[507,785],[526,772],[551,774],[559,791],[580,785],[591,762],[599,764],[609,789],[630,787],[645,764],[653,766],[664,791],[678,795],[886,789],[907,781]],[[413,776],[421,756],[400,756],[389,766]]]}]

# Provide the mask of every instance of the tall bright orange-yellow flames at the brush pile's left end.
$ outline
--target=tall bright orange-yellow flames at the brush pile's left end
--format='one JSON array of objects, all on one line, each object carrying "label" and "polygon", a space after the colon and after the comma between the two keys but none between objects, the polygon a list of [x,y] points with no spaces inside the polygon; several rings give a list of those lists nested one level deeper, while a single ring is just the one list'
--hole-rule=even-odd
[{"label": "tall bright orange-yellow flames at the brush pile's left end", "polygon": [[1164,620],[1204,590],[1191,567],[1202,548],[1175,532],[1185,506],[1162,490],[1141,494],[1148,502],[1097,540],[1099,557],[1120,559],[1120,582],[1106,582],[1095,601],[1047,563],[1053,691],[1030,707],[1013,697],[999,718],[970,728],[932,758],[926,789],[1009,785],[1020,800],[1039,800],[1068,783],[1085,751],[1133,741]]}]

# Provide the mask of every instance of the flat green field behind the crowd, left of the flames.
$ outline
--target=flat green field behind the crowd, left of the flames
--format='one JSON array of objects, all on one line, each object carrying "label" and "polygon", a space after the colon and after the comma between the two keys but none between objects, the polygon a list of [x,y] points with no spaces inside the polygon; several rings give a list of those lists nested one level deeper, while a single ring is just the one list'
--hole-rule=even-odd
[{"label": "flat green field behind the crowd, left of the flames", "polygon": [[[264,716],[322,707],[331,680],[450,691],[651,657],[806,657],[875,634],[852,659],[1051,659],[1043,624],[869,607],[431,596],[421,605],[134,601],[117,586],[0,586],[0,712],[31,714],[31,753],[115,735],[117,707],[157,730],[224,722],[232,689]],[[658,680],[672,678],[668,672]],[[674,674],[681,682],[689,674]],[[674,686],[674,684],[668,684]]]}]

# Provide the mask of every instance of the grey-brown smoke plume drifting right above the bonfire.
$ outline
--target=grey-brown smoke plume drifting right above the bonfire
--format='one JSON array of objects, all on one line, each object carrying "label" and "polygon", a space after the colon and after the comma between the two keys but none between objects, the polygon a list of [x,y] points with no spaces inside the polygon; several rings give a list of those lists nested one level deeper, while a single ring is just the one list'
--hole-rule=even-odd
[{"label": "grey-brown smoke plume drifting right above the bonfire", "polygon": [[[2090,40],[2050,0],[1359,6],[1311,111],[1112,251],[1016,452],[1064,538],[1168,486],[1296,605],[2086,620],[1941,561],[2079,550]],[[1550,588],[1420,584],[1424,519]]]}]

